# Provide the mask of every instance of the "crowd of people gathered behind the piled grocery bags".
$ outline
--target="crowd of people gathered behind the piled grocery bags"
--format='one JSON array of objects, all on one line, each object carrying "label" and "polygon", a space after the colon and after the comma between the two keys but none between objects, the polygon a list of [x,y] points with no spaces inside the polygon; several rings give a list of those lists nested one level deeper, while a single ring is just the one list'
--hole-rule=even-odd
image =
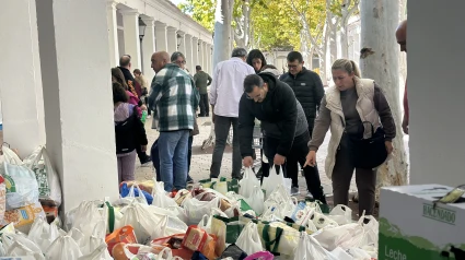
[{"label": "crowd of people gathered behind the piled grocery bags", "polygon": [[[403,22],[396,33],[403,51],[406,25]],[[200,66],[190,75],[186,62],[178,51],[171,56],[166,51],[153,54],[151,67],[155,76],[150,85],[139,69],[131,74],[128,55],[120,58],[119,67],[112,69],[120,181],[135,179],[137,154],[141,164],[153,163],[156,180],[164,182],[166,191],[186,188],[194,181],[189,170],[193,138],[199,133],[197,117],[209,117],[211,111],[216,137],[211,178],[221,174],[231,128],[231,178],[241,179],[242,167],[254,165],[253,139],[258,119],[263,150],[257,175],[268,176],[271,165],[281,167],[292,180],[291,193],[298,194],[300,165],[309,196],[325,203],[316,152],[330,129],[325,170],[333,181],[335,204],[348,204],[350,180],[356,172],[360,214],[373,213],[376,167],[361,166],[370,163],[363,162],[367,157],[357,158],[354,151],[364,145],[361,140],[374,140],[382,134],[385,151],[375,152],[387,157],[393,151],[396,127],[382,90],[373,80],[361,78],[356,62],[336,60],[332,66],[334,86],[326,92],[319,75],[305,68],[299,51],[287,56],[284,73],[267,64],[258,49],[247,52],[235,48],[229,60],[214,67],[211,76]],[[147,155],[144,115],[153,115],[152,129],[160,132],[151,146],[151,156]],[[405,115],[403,129],[407,133],[408,106]]]}]

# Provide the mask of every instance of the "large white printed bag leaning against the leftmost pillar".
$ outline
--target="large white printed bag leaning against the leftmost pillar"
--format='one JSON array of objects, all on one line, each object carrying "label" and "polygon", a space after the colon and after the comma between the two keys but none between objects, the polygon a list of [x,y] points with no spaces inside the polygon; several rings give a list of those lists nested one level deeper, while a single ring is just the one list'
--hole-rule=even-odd
[{"label": "large white printed bag leaning against the leftmost pillar", "polygon": [[3,178],[7,186],[7,210],[38,202],[38,185],[34,172],[23,165],[18,155],[2,146]]}]

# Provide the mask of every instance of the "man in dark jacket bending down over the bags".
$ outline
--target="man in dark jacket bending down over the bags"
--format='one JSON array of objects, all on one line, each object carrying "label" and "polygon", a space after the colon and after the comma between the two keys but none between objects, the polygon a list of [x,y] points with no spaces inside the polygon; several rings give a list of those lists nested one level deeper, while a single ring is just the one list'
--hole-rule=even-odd
[{"label": "man in dark jacket bending down over the bags", "polygon": [[[254,120],[261,122],[265,133],[264,151],[270,163],[286,168],[299,162],[302,166],[309,152],[310,134],[302,106],[288,84],[264,71],[247,75],[239,105],[239,135],[245,167],[253,165]],[[319,176],[313,167],[304,168],[306,186],[313,198],[326,203]],[[286,169],[284,169],[286,173]],[[297,186],[297,178],[292,182]]]}]

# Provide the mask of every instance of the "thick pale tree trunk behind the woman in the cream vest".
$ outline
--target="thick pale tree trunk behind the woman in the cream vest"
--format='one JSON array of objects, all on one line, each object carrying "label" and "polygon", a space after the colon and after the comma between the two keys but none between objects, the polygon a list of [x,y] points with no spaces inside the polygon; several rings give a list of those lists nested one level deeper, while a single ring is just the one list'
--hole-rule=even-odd
[{"label": "thick pale tree trunk behind the woman in the cream vest", "polygon": [[398,24],[398,2],[393,0],[362,1],[360,67],[362,76],[373,79],[383,88],[396,123],[393,158],[377,169],[379,188],[407,184],[407,163],[400,127],[398,55],[395,29]]}]

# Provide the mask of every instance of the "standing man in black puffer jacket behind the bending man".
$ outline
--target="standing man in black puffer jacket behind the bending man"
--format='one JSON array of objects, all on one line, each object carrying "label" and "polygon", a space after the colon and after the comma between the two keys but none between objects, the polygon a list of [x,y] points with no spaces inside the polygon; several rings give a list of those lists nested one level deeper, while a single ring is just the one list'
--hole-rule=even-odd
[{"label": "standing man in black puffer jacket behind the bending man", "polygon": [[[288,83],[295,94],[297,99],[302,105],[305,113],[306,121],[309,123],[309,133],[312,138],[313,125],[315,122],[316,111],[319,108],[319,103],[325,95],[322,80],[315,72],[307,70],[304,66],[303,57],[299,51],[291,51],[288,54],[288,69],[289,72],[282,74],[280,80]],[[307,167],[309,168],[309,167]],[[318,168],[310,167],[318,174]],[[289,176],[292,178],[293,184],[298,184],[298,165],[288,164],[287,169]],[[292,187],[292,193],[299,193],[299,186]]]}]

